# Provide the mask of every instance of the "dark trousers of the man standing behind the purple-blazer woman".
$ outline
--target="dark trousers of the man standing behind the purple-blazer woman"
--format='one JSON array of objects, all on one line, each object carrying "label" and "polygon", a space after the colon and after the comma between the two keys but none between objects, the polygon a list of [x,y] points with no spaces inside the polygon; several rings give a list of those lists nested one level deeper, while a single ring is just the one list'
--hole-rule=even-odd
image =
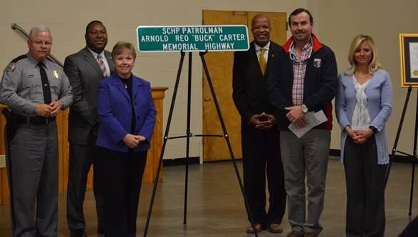
[{"label": "dark trousers of the man standing behind the purple-blazer woman", "polygon": [[[72,233],[80,234],[85,229],[83,203],[88,172],[95,164],[96,147],[94,145],[70,144],[70,165],[68,169],[67,223]],[[93,172],[96,172],[93,165]],[[103,233],[103,197],[93,177],[96,211],[98,215],[98,233]]]}]

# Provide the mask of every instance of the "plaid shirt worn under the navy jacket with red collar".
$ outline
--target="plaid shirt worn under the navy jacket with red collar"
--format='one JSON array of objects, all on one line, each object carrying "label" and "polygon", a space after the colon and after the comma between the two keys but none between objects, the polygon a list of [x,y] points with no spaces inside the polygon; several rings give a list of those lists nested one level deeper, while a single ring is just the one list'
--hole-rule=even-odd
[{"label": "plaid shirt worn under the navy jacket with red collar", "polygon": [[289,51],[291,60],[293,60],[293,88],[292,88],[292,102],[293,105],[303,104],[303,83],[305,81],[306,63],[310,54],[312,53],[313,40],[303,46],[302,55],[298,56],[295,48],[295,41],[291,44]]}]

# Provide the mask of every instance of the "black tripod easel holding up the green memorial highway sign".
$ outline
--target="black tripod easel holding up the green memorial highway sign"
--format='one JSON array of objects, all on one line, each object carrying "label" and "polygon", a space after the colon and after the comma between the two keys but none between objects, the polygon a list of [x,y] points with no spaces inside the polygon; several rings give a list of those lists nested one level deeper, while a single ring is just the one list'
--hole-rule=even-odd
[{"label": "black tripod easel holding up the green memorial highway sign", "polygon": [[[216,100],[214,86],[212,85],[211,77],[209,75],[209,70],[207,68],[206,61],[204,60],[204,55],[206,53],[207,53],[207,51],[206,52],[199,52],[199,56],[202,59],[202,65],[203,65],[203,68],[204,68],[204,73],[207,77],[207,82],[208,82],[209,88],[211,90],[212,98],[214,99],[214,103],[215,103],[215,106],[216,106],[216,112],[218,113],[219,122],[221,122],[221,127],[222,127],[222,131],[224,132],[224,135],[193,135],[190,132],[190,107],[191,107],[191,101],[192,101],[192,98],[191,98],[191,96],[192,96],[192,52],[189,52],[189,74],[188,74],[188,82],[187,82],[187,129],[186,129],[186,135],[177,136],[177,137],[168,137],[169,127],[170,127],[170,124],[171,124],[173,110],[174,110],[174,103],[175,103],[175,100],[176,100],[176,97],[177,97],[177,89],[179,88],[179,80],[180,80],[180,75],[182,74],[182,66],[183,66],[183,62],[184,62],[184,54],[185,53],[183,51],[180,52],[181,58],[180,58],[180,63],[179,63],[179,69],[177,70],[177,78],[176,78],[176,83],[174,85],[174,92],[173,92],[173,96],[172,96],[172,102],[171,102],[171,105],[169,107],[169,115],[168,115],[167,125],[166,125],[166,128],[165,128],[165,133],[164,133],[164,142],[162,143],[162,149],[161,149],[161,154],[160,154],[160,162],[158,162],[157,175],[155,176],[155,181],[154,181],[154,188],[152,189],[150,208],[148,209],[147,223],[145,224],[145,229],[144,229],[144,237],[147,236],[148,227],[150,225],[152,206],[154,205],[155,192],[157,191],[158,178],[160,177],[160,169],[162,167],[162,158],[164,157],[165,145],[167,144],[168,139],[177,139],[177,138],[184,138],[184,137],[186,137],[187,148],[186,148],[186,174],[185,174],[185,182],[184,182],[185,187],[184,187],[184,218],[183,218],[183,224],[187,223],[187,186],[188,186],[188,179],[189,179],[189,140],[190,140],[190,137],[224,137],[225,140],[226,140],[226,144],[228,144],[229,154],[231,154],[232,163],[234,164],[234,168],[235,168],[235,172],[236,172],[236,178],[238,179],[239,187],[241,188],[241,194],[242,194],[243,199],[244,199],[246,213],[248,214],[248,216],[250,218],[251,226],[253,226],[253,228],[254,228],[253,216],[252,216],[252,214],[249,210],[249,204],[248,204],[248,201],[246,199],[246,195],[245,195],[245,192],[244,192],[244,186],[242,185],[241,177],[239,175],[239,170],[238,170],[238,167],[236,165],[234,152],[232,151],[232,147],[231,147],[231,142],[229,141],[229,135],[226,132],[226,126],[225,126],[225,123],[224,123],[224,119],[221,115],[221,109],[219,107],[218,100]],[[258,237],[258,234],[254,233],[254,236]]]}]

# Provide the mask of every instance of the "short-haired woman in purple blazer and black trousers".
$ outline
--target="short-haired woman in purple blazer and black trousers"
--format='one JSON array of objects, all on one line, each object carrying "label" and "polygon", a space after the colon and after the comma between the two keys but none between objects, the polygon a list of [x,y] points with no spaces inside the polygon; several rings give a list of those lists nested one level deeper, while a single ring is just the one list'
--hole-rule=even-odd
[{"label": "short-haired woman in purple blazer and black trousers", "polygon": [[105,236],[136,236],[136,218],[147,149],[155,125],[150,83],[131,73],[131,43],[118,42],[112,59],[116,74],[100,81],[98,183],[103,190]]}]

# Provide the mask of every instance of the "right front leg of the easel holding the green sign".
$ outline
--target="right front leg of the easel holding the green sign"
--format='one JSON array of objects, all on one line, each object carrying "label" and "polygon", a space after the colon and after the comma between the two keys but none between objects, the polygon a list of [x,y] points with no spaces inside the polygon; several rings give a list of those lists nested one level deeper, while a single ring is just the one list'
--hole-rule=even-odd
[{"label": "right front leg of the easel holding the green sign", "polygon": [[[212,85],[211,77],[209,75],[209,70],[207,68],[206,61],[204,60],[204,54],[205,53],[206,52],[201,52],[201,53],[199,53],[199,56],[202,59],[202,65],[203,65],[203,68],[204,68],[204,73],[206,74],[207,83],[209,84],[209,88],[211,90],[211,95],[212,95],[212,98],[214,99],[216,112],[218,112],[219,122],[221,122],[222,131],[224,132],[224,138],[226,140],[226,144],[228,144],[229,154],[231,154],[232,163],[234,164],[234,169],[235,169],[235,172],[236,172],[236,178],[238,179],[239,187],[241,188],[241,193],[242,193],[242,196],[244,198],[245,209],[246,209],[247,214],[249,215],[251,226],[254,228],[253,216],[252,216],[251,211],[249,209],[248,201],[246,199],[246,195],[245,195],[245,192],[244,192],[244,186],[242,185],[241,177],[239,175],[239,170],[238,170],[238,167],[236,165],[234,152],[232,151],[232,147],[231,147],[231,142],[229,141],[229,136],[228,136],[228,133],[226,132],[226,126],[225,126],[225,123],[224,123],[224,118],[222,117],[221,109],[219,107],[218,100],[216,100],[216,94],[215,94],[214,86]],[[258,234],[254,233],[254,236],[258,237]]]}]

